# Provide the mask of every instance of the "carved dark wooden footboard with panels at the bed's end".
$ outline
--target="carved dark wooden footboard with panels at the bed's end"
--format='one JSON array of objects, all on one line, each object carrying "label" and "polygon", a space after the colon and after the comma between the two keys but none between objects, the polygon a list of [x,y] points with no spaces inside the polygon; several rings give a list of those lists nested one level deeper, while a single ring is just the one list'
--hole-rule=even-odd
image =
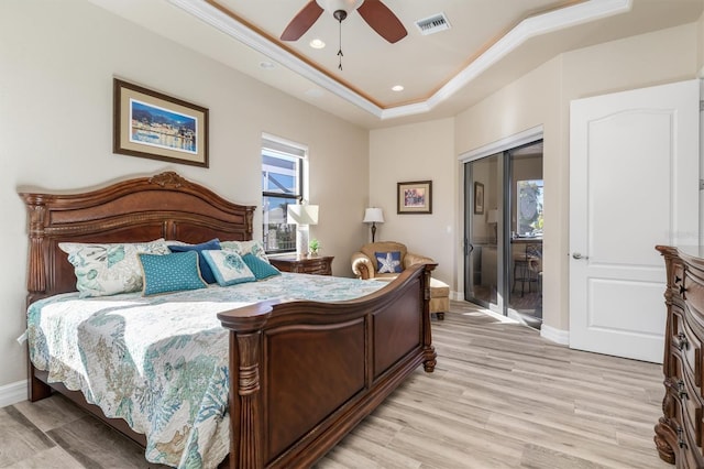
[{"label": "carved dark wooden footboard with panels at the bed's end", "polygon": [[436,353],[432,265],[340,304],[258,304],[218,315],[230,329],[230,467],[306,467]]}]

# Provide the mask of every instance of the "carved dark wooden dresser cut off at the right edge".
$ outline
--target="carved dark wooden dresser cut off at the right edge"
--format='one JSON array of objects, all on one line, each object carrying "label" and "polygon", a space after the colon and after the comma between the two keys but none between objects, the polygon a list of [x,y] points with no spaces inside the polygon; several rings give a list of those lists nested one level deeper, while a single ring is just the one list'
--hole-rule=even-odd
[{"label": "carved dark wooden dresser cut off at the right edge", "polygon": [[704,247],[656,248],[664,257],[668,320],[664,336],[663,416],[656,425],[660,458],[678,468],[704,468]]}]

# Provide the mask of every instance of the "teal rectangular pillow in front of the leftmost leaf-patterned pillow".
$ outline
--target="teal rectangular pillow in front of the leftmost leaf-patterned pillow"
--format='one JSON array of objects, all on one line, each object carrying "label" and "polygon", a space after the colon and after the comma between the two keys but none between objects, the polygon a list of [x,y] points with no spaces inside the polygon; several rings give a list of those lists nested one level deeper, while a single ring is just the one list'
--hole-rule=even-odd
[{"label": "teal rectangular pillow in front of the leftmost leaf-patterned pillow", "polygon": [[166,255],[140,254],[140,262],[144,271],[144,296],[208,286],[200,276],[196,251]]}]

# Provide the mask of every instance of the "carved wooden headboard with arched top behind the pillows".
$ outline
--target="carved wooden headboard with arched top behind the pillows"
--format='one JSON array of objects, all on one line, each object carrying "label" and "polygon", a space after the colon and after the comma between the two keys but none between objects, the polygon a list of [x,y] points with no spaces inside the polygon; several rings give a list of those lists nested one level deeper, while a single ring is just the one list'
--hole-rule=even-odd
[{"label": "carved wooden headboard with arched top behind the pillows", "polygon": [[29,216],[28,304],[76,290],[74,268],[59,242],[252,239],[254,206],[230,203],[174,172],[79,194],[20,196]]}]

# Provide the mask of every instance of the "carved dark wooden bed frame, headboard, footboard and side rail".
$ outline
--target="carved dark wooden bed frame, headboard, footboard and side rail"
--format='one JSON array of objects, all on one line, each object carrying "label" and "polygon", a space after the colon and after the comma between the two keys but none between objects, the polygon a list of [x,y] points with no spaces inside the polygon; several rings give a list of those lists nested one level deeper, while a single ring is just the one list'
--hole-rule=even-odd
[{"label": "carved dark wooden bed frame, headboard, footboard and side rail", "polygon": [[[80,194],[21,192],[29,214],[28,305],[76,290],[59,242],[199,243],[252,239],[255,207],[232,204],[168,172]],[[406,270],[363,298],[265,302],[218,314],[230,330],[231,468],[310,466],[419,364],[436,366],[430,272]],[[30,401],[59,391],[144,446],[79,392],[47,383],[30,363]]]}]

